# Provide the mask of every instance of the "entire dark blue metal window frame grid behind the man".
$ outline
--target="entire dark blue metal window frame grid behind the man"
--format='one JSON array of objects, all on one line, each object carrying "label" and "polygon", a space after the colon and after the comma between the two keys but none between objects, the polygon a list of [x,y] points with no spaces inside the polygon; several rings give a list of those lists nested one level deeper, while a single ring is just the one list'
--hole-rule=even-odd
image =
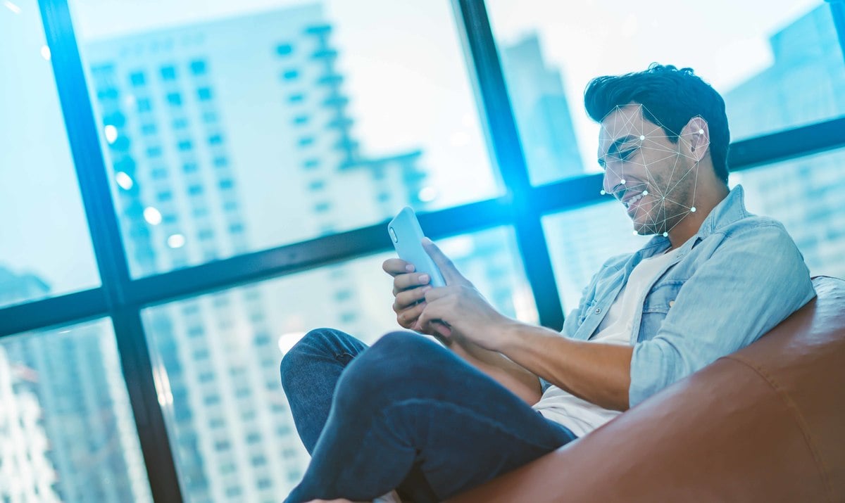
[{"label": "entire dark blue metal window frame grid behind the man", "polygon": [[[481,107],[493,165],[506,192],[500,197],[421,214],[433,238],[497,226],[515,230],[526,279],[542,325],[559,329],[564,311],[554,280],[542,217],[604,201],[602,175],[580,176],[534,187],[504,83],[499,54],[483,0],[450,0],[472,84]],[[826,0],[845,53],[845,2]],[[255,251],[198,266],[132,279],[101,151],[97,121],[71,20],[68,0],[40,0],[41,19],[76,166],[101,286],[0,309],[0,338],[109,316],[115,329],[123,377],[137,425],[150,489],[156,501],[182,501],[177,467],[155,392],[150,348],[141,310],[278,278],[391,249],[387,223]],[[793,127],[731,144],[732,171],[747,170],[845,146],[845,117]]]}]

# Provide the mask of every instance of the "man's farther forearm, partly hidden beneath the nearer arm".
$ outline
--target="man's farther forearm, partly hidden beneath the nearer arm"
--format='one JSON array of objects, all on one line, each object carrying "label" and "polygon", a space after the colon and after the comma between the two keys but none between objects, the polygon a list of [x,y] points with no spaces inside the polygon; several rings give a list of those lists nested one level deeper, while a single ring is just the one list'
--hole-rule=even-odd
[{"label": "man's farther forearm, partly hidden beneath the nearer arm", "polygon": [[540,400],[540,380],[531,371],[509,360],[503,354],[483,349],[475,343],[455,338],[449,348],[467,363],[487,374],[529,405]]}]

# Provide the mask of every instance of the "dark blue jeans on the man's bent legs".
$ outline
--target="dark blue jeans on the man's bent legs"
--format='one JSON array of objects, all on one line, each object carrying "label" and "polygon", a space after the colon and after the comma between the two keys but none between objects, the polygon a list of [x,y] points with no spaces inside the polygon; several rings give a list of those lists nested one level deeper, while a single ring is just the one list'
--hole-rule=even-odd
[{"label": "dark blue jeans on the man's bent legs", "polygon": [[438,343],[388,333],[368,348],[330,328],[281,362],[311,454],[288,503],[315,498],[444,500],[575,439]]}]

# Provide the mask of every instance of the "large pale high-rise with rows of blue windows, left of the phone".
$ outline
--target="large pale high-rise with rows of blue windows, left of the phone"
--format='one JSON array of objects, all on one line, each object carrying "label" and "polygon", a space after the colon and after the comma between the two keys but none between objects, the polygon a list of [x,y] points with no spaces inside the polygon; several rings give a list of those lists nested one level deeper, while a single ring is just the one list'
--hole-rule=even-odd
[{"label": "large pale high-rise with rows of blue windows, left of the phone", "polygon": [[[300,241],[424,207],[421,152],[372,157],[354,138],[331,32],[311,5],[87,46],[134,275],[252,251],[248,234]],[[275,197],[250,208],[256,184]],[[315,274],[286,292],[323,292],[297,316],[363,330],[354,275]],[[187,500],[275,501],[302,476],[269,309],[250,285],[144,311]]]}]

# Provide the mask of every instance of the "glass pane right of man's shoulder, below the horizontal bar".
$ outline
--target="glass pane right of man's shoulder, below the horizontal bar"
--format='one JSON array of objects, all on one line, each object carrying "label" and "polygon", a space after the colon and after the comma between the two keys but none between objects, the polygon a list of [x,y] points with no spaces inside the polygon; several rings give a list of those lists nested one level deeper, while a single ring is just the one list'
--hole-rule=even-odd
[{"label": "glass pane right of man's shoulder, below the horizontal bar", "polygon": [[845,278],[845,150],[731,175],[749,211],[780,220],[804,254],[810,274]]}]

